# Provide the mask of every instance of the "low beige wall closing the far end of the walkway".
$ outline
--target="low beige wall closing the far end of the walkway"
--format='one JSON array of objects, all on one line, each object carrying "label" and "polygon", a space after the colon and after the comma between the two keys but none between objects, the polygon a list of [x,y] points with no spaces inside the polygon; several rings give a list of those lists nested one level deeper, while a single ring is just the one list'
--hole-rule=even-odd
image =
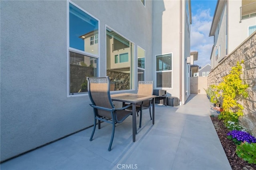
[{"label": "low beige wall closing the far end of the walkway", "polygon": [[206,94],[207,77],[190,77],[190,93]]}]

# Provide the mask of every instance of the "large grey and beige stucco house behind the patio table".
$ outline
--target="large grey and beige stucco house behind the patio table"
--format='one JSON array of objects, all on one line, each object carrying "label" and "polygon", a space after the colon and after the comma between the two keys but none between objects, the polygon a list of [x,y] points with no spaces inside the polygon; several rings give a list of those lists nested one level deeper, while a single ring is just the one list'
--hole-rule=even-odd
[{"label": "large grey and beige stucco house behind the patio table", "polygon": [[90,127],[86,77],[190,95],[190,0],[0,3],[1,161]]}]

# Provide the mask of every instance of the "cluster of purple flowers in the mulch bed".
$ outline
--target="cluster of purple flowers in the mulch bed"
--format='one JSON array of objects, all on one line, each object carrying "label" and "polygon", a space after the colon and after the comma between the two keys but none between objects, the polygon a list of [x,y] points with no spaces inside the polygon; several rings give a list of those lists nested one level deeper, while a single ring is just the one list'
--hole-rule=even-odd
[{"label": "cluster of purple flowers in the mulch bed", "polygon": [[248,132],[232,130],[227,135],[227,138],[233,140],[237,145],[241,144],[241,142],[256,143],[256,138]]}]

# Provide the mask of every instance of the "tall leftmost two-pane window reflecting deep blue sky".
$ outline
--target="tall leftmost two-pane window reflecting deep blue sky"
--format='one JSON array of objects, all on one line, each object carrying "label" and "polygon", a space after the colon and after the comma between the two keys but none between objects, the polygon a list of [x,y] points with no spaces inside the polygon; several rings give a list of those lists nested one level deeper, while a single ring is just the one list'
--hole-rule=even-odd
[{"label": "tall leftmost two-pane window reflecting deep blue sky", "polygon": [[86,77],[98,76],[98,20],[69,5],[69,95],[87,93]]}]

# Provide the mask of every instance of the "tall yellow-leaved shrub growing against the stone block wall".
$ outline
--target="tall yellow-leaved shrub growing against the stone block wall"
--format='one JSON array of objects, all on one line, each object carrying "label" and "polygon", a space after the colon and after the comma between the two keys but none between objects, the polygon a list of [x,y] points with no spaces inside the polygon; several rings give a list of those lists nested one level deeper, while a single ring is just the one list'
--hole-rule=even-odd
[{"label": "tall yellow-leaved shrub growing against the stone block wall", "polygon": [[248,97],[246,89],[249,87],[243,84],[240,75],[242,74],[242,60],[241,63],[237,62],[236,66],[231,68],[228,75],[224,76],[223,81],[219,85],[211,85],[215,91],[215,98],[213,100],[221,100],[223,111],[220,113],[219,118],[227,124],[228,121],[238,121],[238,117],[242,116],[242,109],[244,107],[238,103],[242,97]]}]

